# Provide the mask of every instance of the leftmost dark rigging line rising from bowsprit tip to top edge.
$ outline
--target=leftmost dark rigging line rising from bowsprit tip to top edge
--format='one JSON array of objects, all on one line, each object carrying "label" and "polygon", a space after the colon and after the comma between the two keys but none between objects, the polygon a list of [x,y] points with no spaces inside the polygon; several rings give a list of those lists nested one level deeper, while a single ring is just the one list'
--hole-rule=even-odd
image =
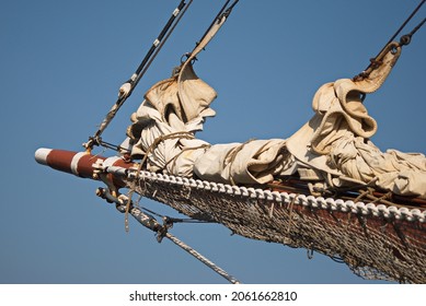
[{"label": "leftmost dark rigging line rising from bowsprit tip to top edge", "polygon": [[[130,76],[130,79],[124,83],[118,92],[118,98],[115,102],[115,104],[112,106],[110,111],[106,114],[106,117],[100,125],[97,131],[94,133],[93,137],[89,138],[89,141],[83,143],[83,146],[90,151],[92,150],[93,145],[100,144],[100,138],[103,131],[107,128],[110,122],[114,119],[115,115],[117,114],[118,109],[123,106],[123,104],[126,102],[126,99],[130,96],[131,92],[134,91],[135,86],[138,84],[140,78],[143,75],[143,73],[147,71],[149,64],[152,62],[153,58],[158,55],[158,51],[156,52],[156,49],[161,49],[165,40],[169,38],[170,34],[175,28],[176,24],[180,22],[184,13],[186,12],[187,8],[191,5],[193,0],[188,2],[188,4],[185,3],[185,0],[181,0],[177,8],[173,11],[172,15],[170,16],[168,23],[161,31],[160,35],[156,38],[156,40],[152,43],[151,48],[149,49],[148,54],[143,58],[142,62],[139,64],[136,72]],[[148,67],[147,67],[147,63]]]}]

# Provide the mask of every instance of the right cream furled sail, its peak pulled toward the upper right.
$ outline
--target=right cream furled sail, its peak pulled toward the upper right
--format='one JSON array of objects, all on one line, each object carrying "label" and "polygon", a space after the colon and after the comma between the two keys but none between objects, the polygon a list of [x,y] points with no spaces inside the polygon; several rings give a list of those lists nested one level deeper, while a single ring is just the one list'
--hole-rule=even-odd
[{"label": "right cream furled sail, its peak pulled toward the upper right", "polygon": [[400,57],[401,47],[390,45],[368,78],[342,79],[318,90],[312,103],[315,115],[287,140],[287,149],[298,161],[332,174],[337,186],[375,180],[380,189],[426,198],[425,155],[396,150],[383,153],[369,140],[377,122],[368,115],[362,96],[383,84]]}]

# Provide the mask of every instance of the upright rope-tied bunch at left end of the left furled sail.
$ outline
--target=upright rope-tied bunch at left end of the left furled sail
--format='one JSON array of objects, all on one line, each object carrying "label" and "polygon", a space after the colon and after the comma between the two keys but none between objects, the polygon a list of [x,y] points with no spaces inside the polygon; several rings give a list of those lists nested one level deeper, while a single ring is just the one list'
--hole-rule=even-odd
[{"label": "upright rope-tied bunch at left end of the left furled sail", "polygon": [[[181,82],[181,83],[180,83]],[[127,129],[134,157],[147,156],[147,169],[192,176],[195,160],[208,143],[194,138],[206,117],[216,92],[195,74],[192,64],[179,74],[154,84],[130,117]]]}]

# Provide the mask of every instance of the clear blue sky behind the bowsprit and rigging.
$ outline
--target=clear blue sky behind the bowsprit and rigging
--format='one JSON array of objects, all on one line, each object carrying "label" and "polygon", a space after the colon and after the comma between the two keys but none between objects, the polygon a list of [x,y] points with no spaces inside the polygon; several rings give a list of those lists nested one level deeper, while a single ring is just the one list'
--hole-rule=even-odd
[{"label": "clear blue sky behind the bowsprit and rigging", "polygon": [[[318,87],[364,70],[418,2],[241,0],[195,64],[218,92],[217,116],[198,137],[224,143],[291,136],[313,115]],[[82,150],[177,3],[2,1],[0,283],[226,283],[133,219],[126,233],[124,216],[94,195],[100,183],[34,161],[38,148]],[[145,91],[170,76],[221,5],[194,1],[104,140],[124,139]],[[425,14],[423,8],[403,33]],[[382,151],[426,152],[425,55],[426,27],[367,96]],[[176,225],[172,233],[245,283],[378,283],[320,254],[308,259],[306,249],[231,236],[221,225]]]}]

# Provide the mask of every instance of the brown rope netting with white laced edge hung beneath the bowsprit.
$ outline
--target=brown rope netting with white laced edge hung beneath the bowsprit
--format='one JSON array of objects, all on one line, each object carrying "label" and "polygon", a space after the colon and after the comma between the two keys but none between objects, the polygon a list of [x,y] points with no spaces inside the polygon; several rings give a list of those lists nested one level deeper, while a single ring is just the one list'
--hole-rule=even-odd
[{"label": "brown rope netting with white laced edge hung beneath the bowsprit", "polygon": [[426,283],[426,211],[148,172],[133,173],[128,181],[139,195],[189,217],[220,223],[247,238],[321,252],[364,279]]}]

